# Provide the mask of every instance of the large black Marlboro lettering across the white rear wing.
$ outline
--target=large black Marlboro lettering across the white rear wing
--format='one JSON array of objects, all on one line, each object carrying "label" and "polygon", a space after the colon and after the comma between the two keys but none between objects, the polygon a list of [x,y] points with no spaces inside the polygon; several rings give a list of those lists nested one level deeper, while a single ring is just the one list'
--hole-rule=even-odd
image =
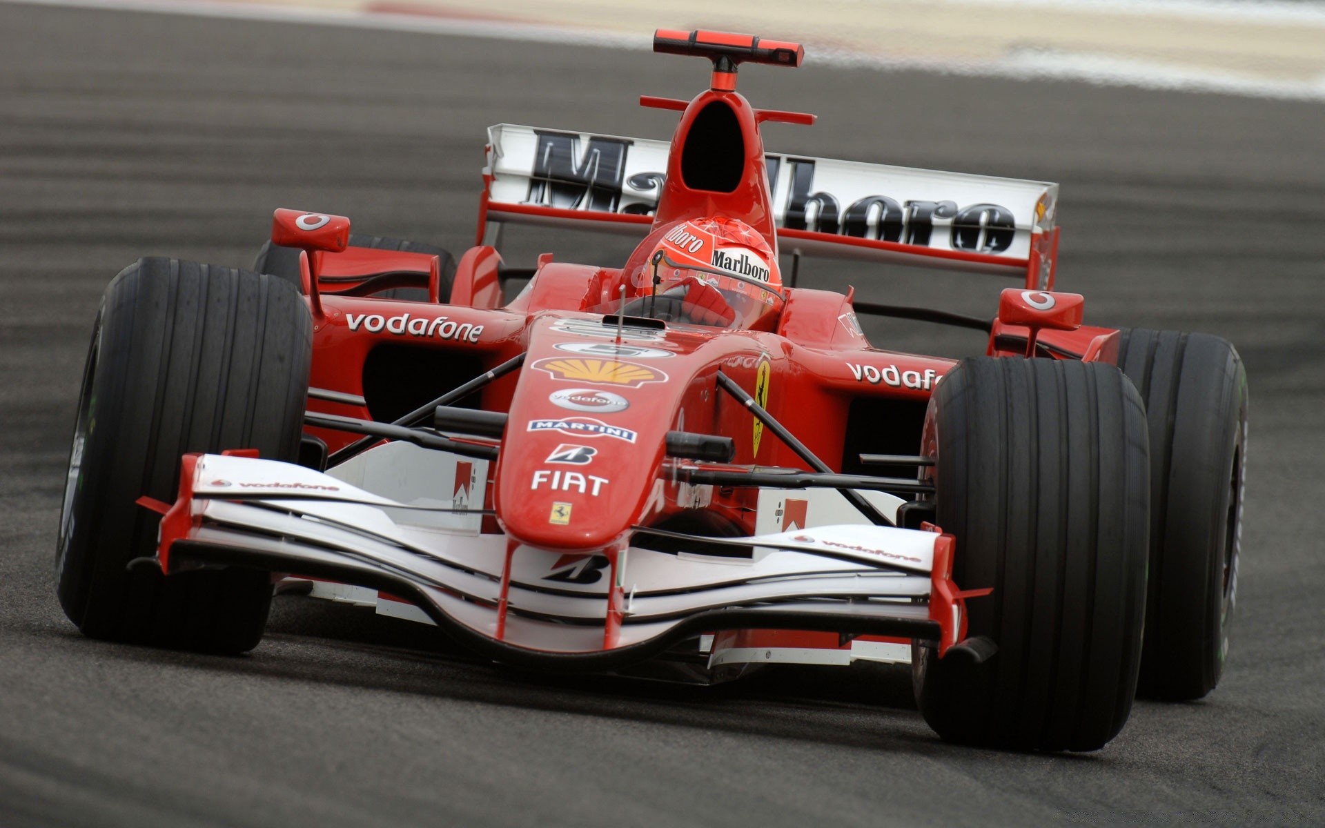
[{"label": "large black Marlboro lettering across the white rear wing", "polygon": [[[538,147],[525,203],[653,213],[666,176],[659,171],[627,176],[631,142],[549,130],[535,134]],[[771,192],[779,191],[780,176],[790,179],[783,191],[786,200],[775,207],[788,229],[995,254],[1007,250],[1016,237],[1016,219],[1002,204],[959,207],[950,200],[897,199],[897,193],[882,192],[848,201],[840,191],[832,191],[832,176],[819,176],[829,180],[816,183],[815,159],[766,155],[765,166]],[[839,179],[836,185],[840,189],[844,184]],[[1041,209],[1037,204],[1036,215],[1043,220]]]}]

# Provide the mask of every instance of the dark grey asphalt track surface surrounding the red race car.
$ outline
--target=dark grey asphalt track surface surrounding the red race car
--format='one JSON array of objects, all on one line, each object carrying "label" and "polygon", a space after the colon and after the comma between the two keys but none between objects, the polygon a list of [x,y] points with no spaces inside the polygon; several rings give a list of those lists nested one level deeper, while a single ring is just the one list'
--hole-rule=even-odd
[{"label": "dark grey asphalt track surface surrounding the red race car", "polygon": [[[771,126],[771,147],[1061,181],[1060,284],[1086,294],[1088,322],[1238,344],[1244,556],[1207,699],[1138,702],[1096,754],[1022,755],[937,741],[893,669],[713,689],[549,680],[306,599],[280,599],[238,658],[81,637],[53,595],[53,547],[86,336],[119,268],[246,265],[280,205],[462,249],[488,125],[666,136],[674,115],[635,95],[689,95],[706,69],[0,5],[0,825],[1325,823],[1325,107],[812,61],[742,73],[757,105],[822,117]],[[576,238],[563,257],[625,246]],[[806,274],[983,314],[1002,286]],[[928,326],[869,333],[982,347]]]}]

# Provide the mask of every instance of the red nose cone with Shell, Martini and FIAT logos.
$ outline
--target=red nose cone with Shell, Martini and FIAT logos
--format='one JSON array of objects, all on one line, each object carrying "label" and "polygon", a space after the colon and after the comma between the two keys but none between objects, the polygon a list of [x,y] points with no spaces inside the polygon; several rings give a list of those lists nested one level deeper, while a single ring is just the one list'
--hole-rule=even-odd
[{"label": "red nose cone with Shell, Martini and FIAT logos", "polygon": [[652,493],[685,360],[542,327],[511,400],[497,518],[530,546],[599,550],[629,531]]}]

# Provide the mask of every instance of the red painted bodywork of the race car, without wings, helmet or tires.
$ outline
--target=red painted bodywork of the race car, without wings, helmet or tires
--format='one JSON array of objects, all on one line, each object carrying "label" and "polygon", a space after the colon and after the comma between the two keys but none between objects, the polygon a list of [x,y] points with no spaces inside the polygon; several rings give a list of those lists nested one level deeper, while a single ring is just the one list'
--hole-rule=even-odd
[{"label": "red painted bodywork of the race car, without wings, helmet or tires", "polygon": [[[776,48],[783,56],[788,48],[799,49],[795,44],[776,44]],[[722,531],[755,534],[757,490],[674,482],[673,464],[677,461],[669,460],[664,450],[668,431],[731,437],[735,444],[733,466],[804,468],[790,448],[717,387],[719,370],[753,393],[772,417],[835,472],[843,470],[853,401],[869,397],[922,404],[955,362],[876,350],[860,331],[849,294],[807,287],[784,290],[784,310],[776,326],[765,331],[697,326],[655,330],[627,321],[624,335],[617,340],[611,326],[603,323],[602,311],[591,313],[617,297],[623,285],[629,295],[636,294],[629,273],[644,264],[659,237],[677,223],[719,215],[738,217],[758,231],[774,250],[779,234],[783,240],[822,236],[775,227],[758,129],[762,121],[808,123],[812,117],[755,110],[734,90],[734,81],[731,65],[730,72],[716,72],[714,87],[688,105],[653,98],[643,101],[649,106],[684,110],[672,139],[666,179],[655,215],[613,217],[621,224],[649,225],[647,237],[628,261],[604,268],[539,257],[529,286],[506,303],[500,284],[504,262],[493,246],[470,248],[458,258],[449,302],[440,303],[437,257],[344,248],[348,220],[278,211],[273,240],[307,250],[302,258],[306,266],[303,289],[314,319],[310,387],[347,395],[341,397],[343,401],[310,397],[310,411],[374,419],[366,366],[370,354],[384,346],[441,352],[469,366],[454,378],[456,382],[439,384],[433,376],[415,376],[412,382],[419,391],[415,396],[423,400],[526,354],[521,371],[493,382],[476,397],[482,409],[509,412],[501,453],[490,465],[486,489],[485,507],[493,509],[496,518],[488,522],[485,531],[504,531],[510,538],[509,548],[519,542],[567,554],[602,554],[613,572],[616,551],[624,548],[636,525],[668,523],[702,511],[710,526]],[[688,187],[682,171],[681,147],[686,144],[686,135],[705,107],[714,103],[733,113],[745,147],[739,181],[721,192]],[[485,193],[480,237],[488,209]],[[546,217],[574,212],[535,205],[505,205],[504,209]],[[908,246],[867,238],[839,237],[836,241],[871,249]],[[1015,262],[1026,268],[1026,286],[1006,291],[1000,319],[992,325],[988,352],[1112,360],[1117,334],[1081,327],[1080,297],[1036,289],[1052,289],[1056,246],[1057,231],[1053,229],[1036,238],[1027,260]],[[947,250],[929,254],[974,264],[994,258]],[[1000,266],[1007,261],[998,258]],[[371,295],[404,286],[427,287],[431,301]],[[592,343],[620,344],[625,350],[616,356],[599,355],[586,348]],[[575,389],[582,391],[578,396],[571,395],[576,396],[578,401],[571,401],[578,408],[555,401],[558,392]],[[352,401],[355,397],[363,403]],[[566,395],[560,399],[564,401]],[[584,425],[616,431],[592,433],[584,431]],[[333,453],[358,439],[358,435],[331,429],[310,429],[310,433],[323,440]],[[912,450],[918,453],[918,424],[914,436]],[[592,449],[591,462],[555,460],[559,450],[576,445]],[[957,592],[946,576],[950,556],[961,551],[950,542],[942,550],[942,570],[935,567],[931,611],[949,616],[935,619],[950,625],[951,605],[966,595]],[[612,645],[613,619],[619,623],[621,597],[617,590],[610,599],[607,647]],[[946,640],[949,635],[945,633]],[[955,640],[955,631],[951,640]]]}]

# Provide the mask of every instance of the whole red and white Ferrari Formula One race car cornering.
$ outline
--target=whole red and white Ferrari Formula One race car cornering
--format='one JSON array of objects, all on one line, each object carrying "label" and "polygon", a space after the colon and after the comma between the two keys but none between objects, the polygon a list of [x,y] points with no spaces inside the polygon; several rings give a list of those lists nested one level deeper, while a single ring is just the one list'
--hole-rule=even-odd
[{"label": "whole red and white Ferrari Formula One race car cornering", "polygon": [[[945,739],[1094,750],[1140,690],[1219,680],[1247,384],[1198,334],[1083,325],[1057,185],[767,152],[741,64],[670,143],[500,125],[478,238],[278,209],[253,270],[142,258],[106,289],[57,552],[83,633],[260,641],[273,586],[437,624],[500,662],[684,681],[910,662]],[[507,266],[510,223],[643,237]],[[798,285],[802,256],[1010,277],[998,315]],[[788,266],[790,262],[790,266]],[[504,287],[527,280],[518,295]],[[876,348],[860,314],[975,327]],[[1147,578],[1149,572],[1149,578]]]}]

